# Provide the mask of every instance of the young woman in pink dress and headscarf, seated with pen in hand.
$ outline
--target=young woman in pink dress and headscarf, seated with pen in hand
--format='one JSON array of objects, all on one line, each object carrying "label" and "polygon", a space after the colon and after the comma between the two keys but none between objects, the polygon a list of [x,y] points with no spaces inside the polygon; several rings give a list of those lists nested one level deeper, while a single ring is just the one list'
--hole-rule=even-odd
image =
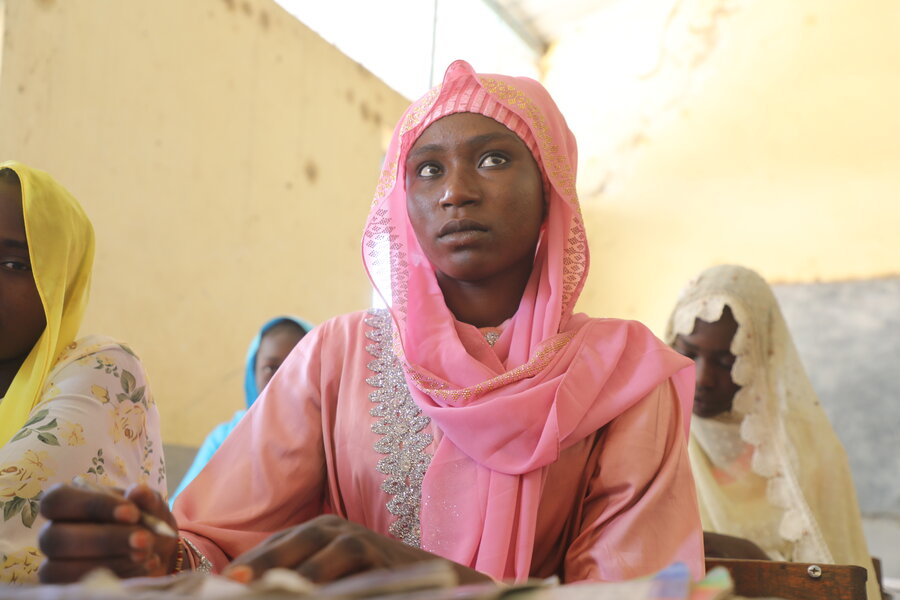
[{"label": "young woman in pink dress and headscarf, seated with pen in hand", "polygon": [[[363,237],[390,309],[310,332],[174,516],[142,489],[48,494],[44,580],[102,564],[322,582],[437,557],[461,581],[675,561],[699,576],[692,367],[638,323],[573,313],[588,270],[575,163],[537,82],[451,65],[398,123]],[[55,551],[79,536],[78,557]]]}]

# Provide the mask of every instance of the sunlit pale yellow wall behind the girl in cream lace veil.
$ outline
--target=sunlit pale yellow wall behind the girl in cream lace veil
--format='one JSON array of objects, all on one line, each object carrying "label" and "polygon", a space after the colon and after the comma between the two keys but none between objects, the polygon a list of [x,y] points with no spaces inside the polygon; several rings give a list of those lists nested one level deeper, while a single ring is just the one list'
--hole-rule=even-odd
[{"label": "sunlit pale yellow wall behind the girl in cream lace veil", "polygon": [[777,282],[900,272],[900,3],[692,0],[666,30],[673,4],[619,3],[546,60],[583,159],[580,308],[660,332],[715,263]]}]

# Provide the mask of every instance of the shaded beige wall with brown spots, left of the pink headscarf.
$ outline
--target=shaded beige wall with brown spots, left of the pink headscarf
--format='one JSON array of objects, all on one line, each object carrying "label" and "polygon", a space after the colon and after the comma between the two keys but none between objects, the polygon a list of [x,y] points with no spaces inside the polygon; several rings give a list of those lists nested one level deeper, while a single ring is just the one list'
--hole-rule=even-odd
[{"label": "shaded beige wall with brown spots, left of the pink headscarf", "polygon": [[243,403],[267,318],[368,306],[359,239],[406,101],[271,0],[0,0],[0,157],[97,230],[83,331],[142,356],[169,443]]}]

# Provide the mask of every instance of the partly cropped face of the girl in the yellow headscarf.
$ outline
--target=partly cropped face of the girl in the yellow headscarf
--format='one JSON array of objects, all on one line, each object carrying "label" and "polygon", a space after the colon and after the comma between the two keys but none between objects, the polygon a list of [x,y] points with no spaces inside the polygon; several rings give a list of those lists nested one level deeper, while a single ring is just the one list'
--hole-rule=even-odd
[{"label": "partly cropped face of the girl in the yellow headscarf", "polygon": [[46,325],[28,255],[22,192],[0,180],[0,361],[24,359]]}]

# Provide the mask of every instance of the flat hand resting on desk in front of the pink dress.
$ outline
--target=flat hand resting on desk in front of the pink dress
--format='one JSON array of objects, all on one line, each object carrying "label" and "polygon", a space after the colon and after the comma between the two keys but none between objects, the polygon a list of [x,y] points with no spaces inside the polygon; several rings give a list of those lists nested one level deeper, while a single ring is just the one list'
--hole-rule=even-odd
[{"label": "flat hand resting on desk in front of the pink dress", "polygon": [[[235,559],[224,574],[247,583],[269,569],[282,567],[315,583],[326,583],[364,571],[435,559],[443,560],[362,525],[323,515],[276,533]],[[478,571],[451,564],[460,583],[491,581]]]}]

